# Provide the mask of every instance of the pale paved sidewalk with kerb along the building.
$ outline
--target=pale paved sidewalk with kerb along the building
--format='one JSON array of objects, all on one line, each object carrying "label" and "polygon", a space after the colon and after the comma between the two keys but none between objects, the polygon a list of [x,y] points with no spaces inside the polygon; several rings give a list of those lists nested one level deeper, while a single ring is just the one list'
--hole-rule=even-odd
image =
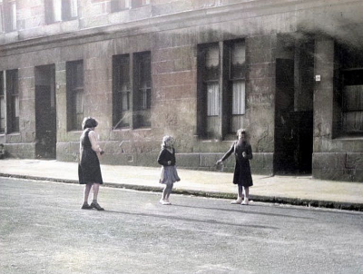
[{"label": "pale paved sidewalk with kerb along the building", "polygon": [[[139,191],[162,191],[159,168],[101,165],[104,186]],[[232,173],[179,169],[182,181],[174,193],[235,199],[237,188]],[[75,162],[55,160],[5,159],[0,161],[0,176],[77,183]],[[289,203],[313,207],[363,211],[363,183],[321,181],[311,176],[252,175],[250,200]]]}]

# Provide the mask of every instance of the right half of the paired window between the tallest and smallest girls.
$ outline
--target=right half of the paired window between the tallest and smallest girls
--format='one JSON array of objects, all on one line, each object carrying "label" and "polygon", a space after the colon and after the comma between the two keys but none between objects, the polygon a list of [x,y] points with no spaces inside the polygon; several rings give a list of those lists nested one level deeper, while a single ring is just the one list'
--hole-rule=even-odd
[{"label": "right half of the paired window between the tallest and smallest girls", "polygon": [[134,61],[134,127],[150,127],[152,93],[150,53],[135,54]]}]

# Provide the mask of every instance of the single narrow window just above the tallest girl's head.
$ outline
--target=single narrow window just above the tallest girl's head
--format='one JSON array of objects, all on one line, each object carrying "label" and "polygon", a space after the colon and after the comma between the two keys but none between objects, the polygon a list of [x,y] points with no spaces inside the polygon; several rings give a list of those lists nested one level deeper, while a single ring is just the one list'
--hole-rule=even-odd
[{"label": "single narrow window just above the tallest girl's head", "polygon": [[82,130],[83,122],[83,61],[67,62],[67,128]]}]

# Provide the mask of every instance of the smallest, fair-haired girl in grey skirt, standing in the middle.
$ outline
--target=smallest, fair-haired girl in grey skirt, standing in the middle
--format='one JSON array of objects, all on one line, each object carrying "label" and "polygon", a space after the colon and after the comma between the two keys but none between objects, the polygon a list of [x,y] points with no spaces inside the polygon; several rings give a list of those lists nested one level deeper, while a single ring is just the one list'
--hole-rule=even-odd
[{"label": "smallest, fair-haired girl in grey skirt, standing in the middle", "polygon": [[160,203],[164,205],[172,204],[169,201],[172,187],[175,181],[181,181],[175,167],[176,161],[173,144],[174,140],[172,139],[172,136],[164,136],[162,138],[162,151],[158,157],[158,163],[162,165],[160,183],[165,185]]}]

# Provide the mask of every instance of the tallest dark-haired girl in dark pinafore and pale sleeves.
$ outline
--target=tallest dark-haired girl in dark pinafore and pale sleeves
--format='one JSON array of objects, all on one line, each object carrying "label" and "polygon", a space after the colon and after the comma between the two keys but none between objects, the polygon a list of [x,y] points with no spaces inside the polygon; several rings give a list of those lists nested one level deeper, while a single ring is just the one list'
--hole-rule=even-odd
[{"label": "tallest dark-haired girl in dark pinafore and pale sleeves", "polygon": [[[98,122],[91,117],[83,119],[83,132],[80,138],[80,161],[78,165],[79,183],[84,184],[84,201],[83,210],[103,210],[97,202],[98,191],[100,184],[103,184],[99,157],[103,154],[97,142],[97,137],[94,128]],[[88,204],[90,191],[93,189],[93,201]]]}]

